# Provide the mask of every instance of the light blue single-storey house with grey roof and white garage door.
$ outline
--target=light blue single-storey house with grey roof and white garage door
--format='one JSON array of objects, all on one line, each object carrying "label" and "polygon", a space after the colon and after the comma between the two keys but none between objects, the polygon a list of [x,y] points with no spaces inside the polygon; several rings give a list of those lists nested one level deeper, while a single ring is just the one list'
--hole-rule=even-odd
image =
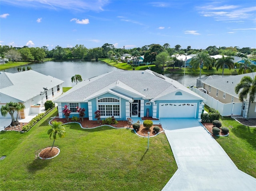
[{"label": "light blue single-storey house with grey roof and white garage door", "polygon": [[68,105],[70,118],[78,116],[76,107],[85,108],[85,117],[96,120],[114,116],[128,117],[200,118],[204,98],[175,80],[150,70],[112,71],[79,83],[54,100],[60,118]]}]

